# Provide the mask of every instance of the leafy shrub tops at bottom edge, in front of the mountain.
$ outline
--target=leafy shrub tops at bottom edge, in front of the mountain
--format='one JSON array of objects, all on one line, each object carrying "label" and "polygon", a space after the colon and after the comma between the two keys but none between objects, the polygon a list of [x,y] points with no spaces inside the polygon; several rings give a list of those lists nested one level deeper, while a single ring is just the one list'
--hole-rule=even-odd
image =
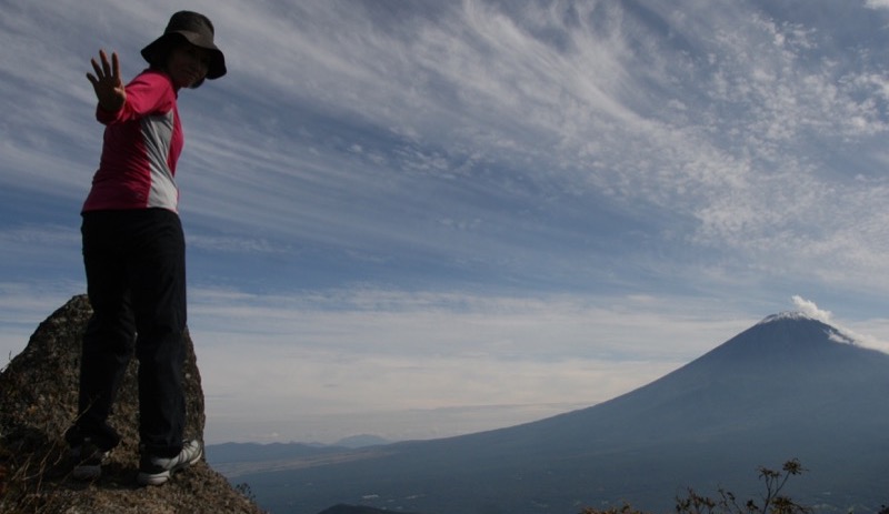
[{"label": "leafy shrub tops at bottom edge, in front of the mountain", "polygon": [[[796,458],[787,461],[780,471],[759,467],[759,478],[765,482],[766,491],[759,501],[748,500],[740,503],[737,496],[723,488],[717,490],[717,497],[703,496],[688,488],[686,496],[676,498],[677,514],[807,514],[810,508],[805,507],[789,496],[781,495],[791,476],[800,475],[806,470]],[[606,511],[585,508],[580,514],[646,514],[633,510],[629,504],[621,507],[611,507]],[[887,512],[886,514],[889,514]]]}]

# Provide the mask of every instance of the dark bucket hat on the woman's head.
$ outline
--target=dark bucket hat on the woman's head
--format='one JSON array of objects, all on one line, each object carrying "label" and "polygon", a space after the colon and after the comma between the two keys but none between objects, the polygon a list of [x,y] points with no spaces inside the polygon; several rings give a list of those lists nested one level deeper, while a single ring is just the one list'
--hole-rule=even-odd
[{"label": "dark bucket hat on the woman's head", "polygon": [[158,52],[167,52],[171,43],[184,40],[207,50],[211,59],[207,69],[207,78],[218,79],[226,74],[226,57],[222,50],[213,43],[213,23],[203,14],[192,11],[179,11],[170,17],[170,22],[163,30],[163,36],[152,41],[142,49],[142,58],[149,63],[157,60]]}]

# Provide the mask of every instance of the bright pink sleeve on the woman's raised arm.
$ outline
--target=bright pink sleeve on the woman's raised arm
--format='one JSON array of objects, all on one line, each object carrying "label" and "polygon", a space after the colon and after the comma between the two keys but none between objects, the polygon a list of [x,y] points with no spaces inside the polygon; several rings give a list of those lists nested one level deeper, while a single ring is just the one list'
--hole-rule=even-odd
[{"label": "bright pink sleeve on the woman's raised arm", "polygon": [[170,79],[159,72],[144,71],[126,87],[127,101],[112,112],[96,107],[96,119],[103,124],[138,120],[151,114],[169,112],[176,103]]}]

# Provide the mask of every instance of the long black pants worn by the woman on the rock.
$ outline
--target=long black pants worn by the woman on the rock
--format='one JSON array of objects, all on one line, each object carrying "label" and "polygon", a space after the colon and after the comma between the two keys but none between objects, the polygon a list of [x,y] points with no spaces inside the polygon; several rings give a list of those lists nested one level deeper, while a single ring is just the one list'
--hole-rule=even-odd
[{"label": "long black pants worn by the woman on the rock", "polygon": [[182,447],[186,243],[179,216],[164,209],[83,214],[83,262],[93,314],[83,335],[79,417],[69,442],[119,442],[107,424],[123,373],[139,359],[142,451]]}]

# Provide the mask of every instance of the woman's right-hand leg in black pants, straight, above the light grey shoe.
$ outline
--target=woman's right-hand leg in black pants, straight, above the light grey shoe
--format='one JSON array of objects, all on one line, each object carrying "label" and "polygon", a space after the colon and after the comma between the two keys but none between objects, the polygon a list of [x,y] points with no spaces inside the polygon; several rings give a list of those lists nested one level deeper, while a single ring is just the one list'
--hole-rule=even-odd
[{"label": "woman's right-hand leg in black pants, straight, above the light grey shoe", "polygon": [[139,359],[139,412],[144,455],[172,457],[186,424],[182,367],[186,329],[186,245],[179,216],[146,212],[142,246],[130,270]]}]

